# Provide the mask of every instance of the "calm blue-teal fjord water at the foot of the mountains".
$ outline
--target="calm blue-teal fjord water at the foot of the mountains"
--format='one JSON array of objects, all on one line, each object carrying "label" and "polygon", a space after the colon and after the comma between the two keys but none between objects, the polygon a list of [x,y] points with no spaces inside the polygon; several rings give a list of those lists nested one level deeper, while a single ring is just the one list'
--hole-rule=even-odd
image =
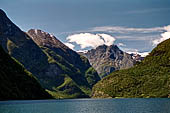
[{"label": "calm blue-teal fjord water at the foot of the mountains", "polygon": [[0,101],[0,113],[170,113],[170,99]]}]

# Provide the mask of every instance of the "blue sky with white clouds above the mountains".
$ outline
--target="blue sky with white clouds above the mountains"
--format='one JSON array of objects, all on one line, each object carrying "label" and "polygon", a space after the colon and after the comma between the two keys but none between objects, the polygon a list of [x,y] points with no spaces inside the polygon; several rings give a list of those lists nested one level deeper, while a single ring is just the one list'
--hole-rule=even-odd
[{"label": "blue sky with white clouds above the mountains", "polygon": [[0,0],[23,31],[41,29],[76,51],[116,44],[150,52],[170,38],[170,0]]}]

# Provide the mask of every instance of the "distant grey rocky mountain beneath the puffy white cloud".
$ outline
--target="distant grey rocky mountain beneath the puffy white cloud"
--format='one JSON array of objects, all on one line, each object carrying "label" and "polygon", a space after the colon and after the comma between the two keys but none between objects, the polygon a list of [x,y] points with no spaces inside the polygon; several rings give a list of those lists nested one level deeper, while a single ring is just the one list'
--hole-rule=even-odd
[{"label": "distant grey rocky mountain beneath the puffy white cloud", "polygon": [[130,68],[135,63],[131,55],[123,52],[116,45],[101,45],[96,49],[80,54],[88,58],[101,78],[115,70]]}]

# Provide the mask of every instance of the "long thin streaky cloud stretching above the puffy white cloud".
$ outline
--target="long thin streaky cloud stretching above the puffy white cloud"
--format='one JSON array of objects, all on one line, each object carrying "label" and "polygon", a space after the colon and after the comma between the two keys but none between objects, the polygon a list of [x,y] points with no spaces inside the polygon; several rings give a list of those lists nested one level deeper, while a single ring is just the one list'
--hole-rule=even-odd
[{"label": "long thin streaky cloud stretching above the puffy white cloud", "polygon": [[162,33],[165,31],[164,27],[150,27],[150,28],[139,28],[139,27],[125,27],[125,26],[99,26],[99,27],[93,27],[86,30],[79,30],[79,31],[73,31],[73,32],[62,32],[58,35],[62,34],[78,34],[78,33],[96,33],[96,32],[103,32],[103,33],[116,33],[116,34],[122,34],[123,36],[126,36],[126,34],[149,34],[149,33]]}]

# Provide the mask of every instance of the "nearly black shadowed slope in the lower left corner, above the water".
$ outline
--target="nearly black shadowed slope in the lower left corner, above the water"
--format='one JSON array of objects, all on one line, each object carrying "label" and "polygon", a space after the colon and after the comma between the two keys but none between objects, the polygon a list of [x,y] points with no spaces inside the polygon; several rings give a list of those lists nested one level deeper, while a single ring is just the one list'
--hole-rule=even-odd
[{"label": "nearly black shadowed slope in the lower left corner, above the water", "polygon": [[36,78],[0,46],[0,100],[52,98]]}]

